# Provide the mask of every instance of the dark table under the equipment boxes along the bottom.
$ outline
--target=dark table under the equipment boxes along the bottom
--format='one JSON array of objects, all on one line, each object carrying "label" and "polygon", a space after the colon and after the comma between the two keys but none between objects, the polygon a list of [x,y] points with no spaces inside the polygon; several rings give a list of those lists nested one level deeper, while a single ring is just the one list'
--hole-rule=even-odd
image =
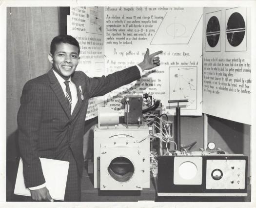
[{"label": "dark table under the equipment boxes along the bottom", "polygon": [[[90,172],[90,171],[89,171]],[[150,177],[150,188],[139,190],[99,190],[93,186],[93,173],[83,170],[81,181],[82,202],[250,202],[251,185],[248,185],[246,197],[209,197],[209,196],[159,196],[156,192],[156,181]]]}]

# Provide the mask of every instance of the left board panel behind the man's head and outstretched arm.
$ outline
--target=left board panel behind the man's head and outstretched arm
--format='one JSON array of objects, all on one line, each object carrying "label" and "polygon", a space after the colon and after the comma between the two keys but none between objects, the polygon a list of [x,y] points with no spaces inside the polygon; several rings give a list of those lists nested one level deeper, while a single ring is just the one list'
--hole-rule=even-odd
[{"label": "left board panel behind the man's head and outstretched arm", "polygon": [[[70,7],[68,35],[79,42],[80,62],[77,70],[89,77],[104,75],[103,7]],[[98,116],[97,106],[104,105],[104,97],[89,100],[86,120]]]}]

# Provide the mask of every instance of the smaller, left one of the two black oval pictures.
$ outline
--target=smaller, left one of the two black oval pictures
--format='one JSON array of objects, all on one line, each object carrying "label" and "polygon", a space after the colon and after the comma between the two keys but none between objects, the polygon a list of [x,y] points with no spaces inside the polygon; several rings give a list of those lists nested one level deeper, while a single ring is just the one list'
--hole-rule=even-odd
[{"label": "smaller, left one of the two black oval pictures", "polygon": [[219,21],[217,17],[213,16],[210,18],[210,20],[207,23],[206,28],[206,38],[207,42],[211,47],[215,47],[219,40]]}]

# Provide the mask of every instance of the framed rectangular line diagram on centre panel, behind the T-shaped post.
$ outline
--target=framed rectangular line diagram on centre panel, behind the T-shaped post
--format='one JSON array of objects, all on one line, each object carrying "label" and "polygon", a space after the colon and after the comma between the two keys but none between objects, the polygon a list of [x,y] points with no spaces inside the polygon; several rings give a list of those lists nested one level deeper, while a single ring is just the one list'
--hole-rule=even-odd
[{"label": "framed rectangular line diagram on centre panel, behind the T-shaped post", "polygon": [[169,67],[169,100],[184,99],[189,102],[182,109],[197,109],[197,66]]}]

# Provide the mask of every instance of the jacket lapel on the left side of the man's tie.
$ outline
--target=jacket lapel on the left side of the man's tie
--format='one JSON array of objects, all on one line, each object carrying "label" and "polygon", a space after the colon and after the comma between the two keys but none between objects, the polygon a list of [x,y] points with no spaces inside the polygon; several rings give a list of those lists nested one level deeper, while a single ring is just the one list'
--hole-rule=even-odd
[{"label": "jacket lapel on the left side of the man's tie", "polygon": [[58,98],[60,105],[62,106],[63,110],[67,114],[68,118],[71,120],[72,116],[71,116],[70,110],[68,108],[67,100],[66,100],[63,90],[59,84],[59,81],[57,80],[55,74],[53,73],[53,69],[51,69],[47,73],[47,75],[49,76],[49,79],[50,79],[50,86],[53,89],[56,97]]}]

